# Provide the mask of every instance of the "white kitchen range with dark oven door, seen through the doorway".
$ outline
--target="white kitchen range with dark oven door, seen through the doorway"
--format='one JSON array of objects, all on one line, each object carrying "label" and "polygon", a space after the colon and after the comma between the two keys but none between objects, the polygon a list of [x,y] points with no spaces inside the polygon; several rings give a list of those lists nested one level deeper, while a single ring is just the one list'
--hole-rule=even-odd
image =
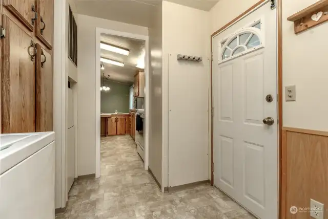
[{"label": "white kitchen range with dark oven door, seen through the doorway", "polygon": [[[138,117],[140,117],[138,121]],[[141,159],[145,161],[145,139],[144,132],[146,131],[145,109],[137,109],[136,114],[136,130],[135,130],[135,143],[137,144],[137,151]],[[141,127],[138,122],[142,122]],[[139,130],[142,129],[142,130]]]}]

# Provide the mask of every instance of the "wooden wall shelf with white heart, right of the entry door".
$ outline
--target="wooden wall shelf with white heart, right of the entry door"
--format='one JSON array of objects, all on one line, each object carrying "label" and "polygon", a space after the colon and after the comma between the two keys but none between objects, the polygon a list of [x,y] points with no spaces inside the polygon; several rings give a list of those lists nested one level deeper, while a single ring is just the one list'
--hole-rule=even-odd
[{"label": "wooden wall shelf with white heart, right of the entry door", "polygon": [[[313,20],[312,16],[318,14],[319,12],[322,12],[320,19],[317,21]],[[287,20],[294,22],[295,34],[322,24],[328,20],[328,0],[320,0],[308,8],[305,8],[288,17]]]}]

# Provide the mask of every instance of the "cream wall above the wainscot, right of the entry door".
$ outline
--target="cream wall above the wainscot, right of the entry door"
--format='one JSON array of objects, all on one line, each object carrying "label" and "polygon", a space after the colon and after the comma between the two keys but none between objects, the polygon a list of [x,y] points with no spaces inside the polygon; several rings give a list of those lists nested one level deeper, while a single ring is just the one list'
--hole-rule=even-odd
[{"label": "cream wall above the wainscot, right of the entry door", "polygon": [[295,35],[294,23],[287,20],[316,2],[282,1],[283,86],[296,85],[296,102],[283,102],[283,126],[326,131],[328,23]]}]

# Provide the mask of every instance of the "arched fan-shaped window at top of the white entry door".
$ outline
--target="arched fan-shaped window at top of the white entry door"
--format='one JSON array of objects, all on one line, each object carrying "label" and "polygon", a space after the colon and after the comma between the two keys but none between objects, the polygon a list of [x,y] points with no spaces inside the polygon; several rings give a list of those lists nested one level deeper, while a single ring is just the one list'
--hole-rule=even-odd
[{"label": "arched fan-shaped window at top of the white entry door", "polygon": [[228,39],[222,40],[219,50],[219,63],[263,48],[264,37],[262,37],[261,24],[258,21],[251,27],[242,28],[231,34]]}]

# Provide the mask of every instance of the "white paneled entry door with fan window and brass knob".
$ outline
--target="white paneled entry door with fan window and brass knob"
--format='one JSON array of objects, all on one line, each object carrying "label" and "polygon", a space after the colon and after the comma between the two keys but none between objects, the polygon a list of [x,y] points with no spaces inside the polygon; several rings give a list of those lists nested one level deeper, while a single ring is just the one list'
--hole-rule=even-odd
[{"label": "white paneled entry door with fan window and brass knob", "polygon": [[262,219],[278,218],[276,10],[270,6],[213,37],[214,184]]}]

